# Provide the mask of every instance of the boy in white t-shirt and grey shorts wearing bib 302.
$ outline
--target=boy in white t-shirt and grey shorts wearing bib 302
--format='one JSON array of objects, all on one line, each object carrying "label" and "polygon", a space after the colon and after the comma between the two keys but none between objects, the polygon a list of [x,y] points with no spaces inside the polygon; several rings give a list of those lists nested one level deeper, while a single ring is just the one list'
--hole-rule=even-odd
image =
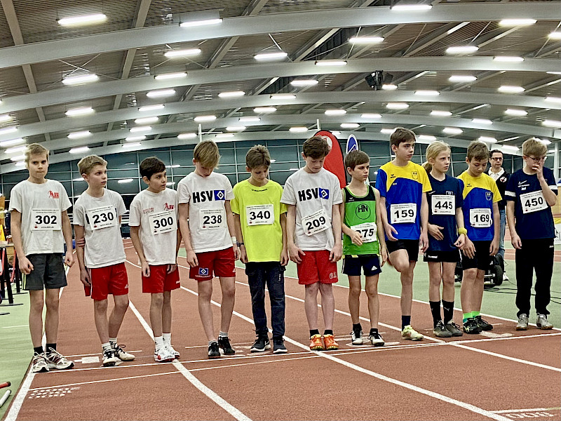
[{"label": "boy in white t-shirt and grey shorts wearing bib 302", "polygon": [[[60,288],[67,285],[64,265],[74,264],[72,225],[67,214],[71,203],[60,182],[45,178],[48,149],[37,143],[27,146],[25,166],[29,178],[13,187],[9,210],[23,288],[29,291],[29,331],[34,349],[32,372],[45,372],[50,368],[64,370],[74,367],[72,361],[57,351],[59,294]],[[46,349],[41,345],[43,302],[47,307]]]}]

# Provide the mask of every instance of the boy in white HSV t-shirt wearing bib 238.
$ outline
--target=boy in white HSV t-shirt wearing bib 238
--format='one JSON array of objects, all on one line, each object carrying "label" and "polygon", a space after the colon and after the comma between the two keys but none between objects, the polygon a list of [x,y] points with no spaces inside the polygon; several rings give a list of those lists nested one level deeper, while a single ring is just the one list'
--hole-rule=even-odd
[{"label": "boy in white HSV t-shirt wearing bib 238", "polygon": [[[208,338],[208,358],[234,355],[228,336],[236,293],[236,267],[240,258],[237,246],[234,214],[230,201],[234,199],[226,175],[213,172],[220,155],[212,140],[196,145],[193,151],[195,171],[177,185],[180,202],[180,228],[187,251],[189,277],[198,281],[198,314]],[[212,321],[212,278],[218,276],[222,289],[222,319],[218,340]]]}]

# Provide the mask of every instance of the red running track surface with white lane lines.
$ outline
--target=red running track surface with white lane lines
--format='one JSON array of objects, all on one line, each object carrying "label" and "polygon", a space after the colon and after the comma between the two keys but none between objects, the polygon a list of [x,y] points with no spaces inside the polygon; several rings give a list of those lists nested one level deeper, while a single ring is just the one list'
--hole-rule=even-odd
[{"label": "red running track surface with white lane lines", "polygon": [[[130,262],[137,258],[127,249]],[[185,260],[180,258],[180,265]],[[140,292],[140,269],[128,264],[130,301],[149,320],[149,296]],[[560,333],[487,318],[494,335],[454,340],[400,338],[398,298],[381,296],[381,348],[352,347],[347,292],[335,287],[334,331],[341,349],[309,352],[308,327],[295,279],[286,280],[286,345],[289,354],[250,354],[254,340],[247,278],[238,269],[236,314],[230,337],[236,356],[209,361],[197,312],[196,282],[180,268],[182,289],[173,297],[173,344],[180,363],[154,363],[154,342],[135,312],[128,311],[119,342],[137,356],[115,368],[76,362],[76,368],[30,377],[17,420],[512,420],[560,417]],[[61,298],[60,351],[99,356],[93,305],[83,297],[78,268],[68,274]],[[221,300],[215,281],[215,302]],[[363,317],[367,317],[364,301]],[[461,317],[457,314],[457,319]],[[219,326],[215,308],[215,326]],[[431,333],[428,305],[414,302],[413,324]],[[368,323],[363,321],[367,330]],[[425,331],[423,328],[427,328]],[[526,337],[526,338],[525,338]],[[183,368],[187,368],[184,370]],[[182,372],[180,372],[182,370]],[[188,379],[191,379],[189,381]],[[193,383],[202,382],[203,392]],[[205,389],[208,388],[208,389]],[[212,396],[211,399],[208,396]],[[17,401],[17,399],[15,399]],[[544,409],[545,408],[545,409]],[[508,411],[511,412],[508,412]],[[518,410],[518,411],[517,411]],[[499,411],[496,413],[494,411]],[[17,417],[15,417],[17,415]]]}]

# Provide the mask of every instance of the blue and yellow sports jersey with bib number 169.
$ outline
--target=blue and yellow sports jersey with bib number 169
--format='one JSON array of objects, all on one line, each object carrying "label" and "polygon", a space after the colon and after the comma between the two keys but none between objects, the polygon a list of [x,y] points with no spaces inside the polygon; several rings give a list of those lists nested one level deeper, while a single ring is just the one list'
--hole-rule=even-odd
[{"label": "blue and yellow sports jersey with bib number 169", "polygon": [[502,199],[496,182],[487,174],[472,177],[464,171],[458,177],[464,182],[464,226],[471,241],[492,241],[494,236],[493,203]]}]

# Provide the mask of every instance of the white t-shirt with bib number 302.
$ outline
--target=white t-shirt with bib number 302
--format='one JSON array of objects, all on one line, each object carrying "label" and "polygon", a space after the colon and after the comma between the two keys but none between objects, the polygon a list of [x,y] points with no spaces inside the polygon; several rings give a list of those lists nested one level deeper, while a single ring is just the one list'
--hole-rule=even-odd
[{"label": "white t-shirt with bib number 302", "polygon": [[72,203],[65,187],[55,180],[18,182],[10,194],[10,209],[22,214],[23,253],[64,253],[62,212]]}]

